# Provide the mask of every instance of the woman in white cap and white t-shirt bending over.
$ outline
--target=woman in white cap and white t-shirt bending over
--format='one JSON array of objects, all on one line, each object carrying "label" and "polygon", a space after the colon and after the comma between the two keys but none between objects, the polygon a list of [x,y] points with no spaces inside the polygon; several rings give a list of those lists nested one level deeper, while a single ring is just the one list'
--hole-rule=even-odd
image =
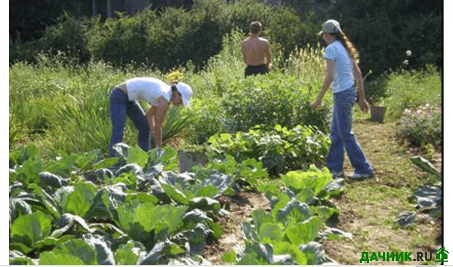
[{"label": "woman in white cap and white t-shirt bending over", "polygon": [[[112,147],[123,141],[126,115],[139,130],[139,146],[148,151],[150,133],[154,137],[155,145],[162,147],[162,126],[170,103],[189,106],[191,97],[192,88],[183,82],[167,85],[156,78],[137,77],[117,85],[110,94],[110,119],[113,126],[109,146],[110,156],[115,156]],[[151,105],[146,114],[137,102],[139,99]]]}]

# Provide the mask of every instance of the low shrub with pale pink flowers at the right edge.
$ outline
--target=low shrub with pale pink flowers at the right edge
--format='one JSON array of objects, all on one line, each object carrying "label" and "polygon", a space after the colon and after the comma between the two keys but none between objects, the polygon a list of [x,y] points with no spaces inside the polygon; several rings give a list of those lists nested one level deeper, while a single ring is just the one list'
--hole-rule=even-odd
[{"label": "low shrub with pale pink flowers at the right edge", "polygon": [[[410,145],[442,149],[442,107],[440,102],[406,109],[398,124],[397,136]],[[429,149],[428,149],[429,150]]]}]

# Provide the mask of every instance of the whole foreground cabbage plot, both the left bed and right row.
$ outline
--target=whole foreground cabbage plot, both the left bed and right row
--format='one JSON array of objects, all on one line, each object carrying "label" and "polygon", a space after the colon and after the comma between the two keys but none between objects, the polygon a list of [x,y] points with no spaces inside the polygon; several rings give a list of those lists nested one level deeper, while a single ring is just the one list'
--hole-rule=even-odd
[{"label": "whole foreground cabbage plot, both the left bed and right row", "polygon": [[[256,159],[236,162],[226,155],[177,173],[173,148],[115,149],[118,158],[100,161],[98,151],[49,161],[34,146],[10,153],[10,264],[209,263],[200,255],[222,236],[219,217],[228,216],[218,198],[268,177]],[[237,263],[323,261],[318,249],[307,248],[319,246],[309,242],[322,237],[323,221],[338,213],[328,198],[341,188],[324,189],[331,177],[314,166],[282,179],[283,191],[261,186],[272,212],[255,210],[253,225],[242,224],[246,246]]]}]

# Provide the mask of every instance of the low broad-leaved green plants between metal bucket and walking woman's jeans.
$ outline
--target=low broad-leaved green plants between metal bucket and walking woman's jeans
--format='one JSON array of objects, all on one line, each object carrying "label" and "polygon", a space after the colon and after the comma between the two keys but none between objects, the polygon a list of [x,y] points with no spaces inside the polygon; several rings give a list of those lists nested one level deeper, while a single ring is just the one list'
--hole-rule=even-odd
[{"label": "low broad-leaved green plants between metal bucket and walking woman's jeans", "polygon": [[208,144],[208,151],[231,155],[237,161],[260,160],[269,174],[277,176],[289,170],[306,169],[310,164],[323,164],[330,139],[315,127],[298,125],[288,130],[277,125],[255,127],[246,133],[216,134]]}]

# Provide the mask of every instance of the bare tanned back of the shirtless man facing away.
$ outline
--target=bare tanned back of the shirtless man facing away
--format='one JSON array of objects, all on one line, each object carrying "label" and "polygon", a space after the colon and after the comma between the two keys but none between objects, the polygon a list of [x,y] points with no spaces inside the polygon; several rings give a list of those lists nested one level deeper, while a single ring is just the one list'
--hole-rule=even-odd
[{"label": "bare tanned back of the shirtless man facing away", "polygon": [[249,66],[270,63],[269,41],[261,37],[248,37],[241,44],[242,57]]}]

